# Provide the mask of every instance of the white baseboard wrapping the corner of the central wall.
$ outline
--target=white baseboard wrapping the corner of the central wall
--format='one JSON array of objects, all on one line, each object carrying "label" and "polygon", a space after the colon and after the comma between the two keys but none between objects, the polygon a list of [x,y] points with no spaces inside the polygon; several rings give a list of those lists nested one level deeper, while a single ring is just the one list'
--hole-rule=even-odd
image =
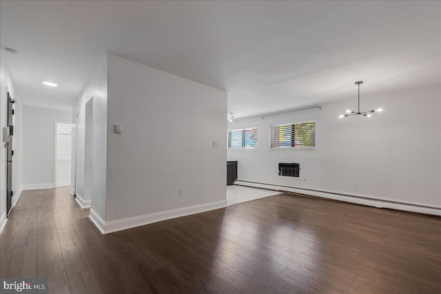
[{"label": "white baseboard wrapping the corner of the central wall", "polygon": [[191,207],[183,207],[178,209],[171,209],[167,211],[160,211],[156,213],[149,213],[143,216],[135,216],[133,218],[124,218],[122,220],[112,220],[104,222],[95,212],[92,214],[90,209],[90,219],[96,227],[103,234],[113,233],[116,231],[122,231],[134,227],[140,227],[145,224],[152,224],[154,222],[161,222],[162,220],[170,220],[172,218],[180,218],[181,216],[189,216],[195,213],[201,213],[214,209],[220,209],[227,207],[227,200],[220,200],[216,202],[210,202],[205,204],[194,205]]}]

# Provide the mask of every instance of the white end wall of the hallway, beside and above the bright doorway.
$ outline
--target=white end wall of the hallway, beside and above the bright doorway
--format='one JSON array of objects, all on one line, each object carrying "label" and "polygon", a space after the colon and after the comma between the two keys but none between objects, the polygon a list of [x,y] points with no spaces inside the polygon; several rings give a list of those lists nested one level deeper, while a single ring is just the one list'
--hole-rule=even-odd
[{"label": "white end wall of the hallway, beside and above the bright doorway", "polygon": [[71,112],[23,105],[23,189],[54,187],[55,122]]}]

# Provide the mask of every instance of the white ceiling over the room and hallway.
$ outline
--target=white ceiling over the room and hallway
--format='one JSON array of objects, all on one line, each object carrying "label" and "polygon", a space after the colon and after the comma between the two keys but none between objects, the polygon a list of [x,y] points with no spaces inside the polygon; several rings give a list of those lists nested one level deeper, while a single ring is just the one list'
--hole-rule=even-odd
[{"label": "white ceiling over the room and hallway", "polygon": [[1,1],[0,37],[25,104],[69,107],[109,52],[226,90],[241,117],[355,98],[359,80],[439,85],[440,18],[440,1]]}]

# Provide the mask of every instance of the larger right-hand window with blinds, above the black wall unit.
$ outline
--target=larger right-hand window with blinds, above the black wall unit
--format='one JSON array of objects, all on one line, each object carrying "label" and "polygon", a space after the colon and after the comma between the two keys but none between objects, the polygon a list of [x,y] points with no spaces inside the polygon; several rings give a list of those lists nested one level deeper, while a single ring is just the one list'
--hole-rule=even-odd
[{"label": "larger right-hand window with blinds, above the black wall unit", "polygon": [[316,147],[316,122],[291,123],[271,126],[271,148]]}]

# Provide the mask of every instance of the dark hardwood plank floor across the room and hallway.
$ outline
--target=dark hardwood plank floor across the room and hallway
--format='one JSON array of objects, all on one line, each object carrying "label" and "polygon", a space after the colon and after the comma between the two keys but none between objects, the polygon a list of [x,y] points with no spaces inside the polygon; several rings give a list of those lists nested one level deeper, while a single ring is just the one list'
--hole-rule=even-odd
[{"label": "dark hardwood plank floor across the room and hallway", "polygon": [[23,191],[1,277],[50,293],[441,293],[441,218],[280,194],[101,235],[68,189]]}]

